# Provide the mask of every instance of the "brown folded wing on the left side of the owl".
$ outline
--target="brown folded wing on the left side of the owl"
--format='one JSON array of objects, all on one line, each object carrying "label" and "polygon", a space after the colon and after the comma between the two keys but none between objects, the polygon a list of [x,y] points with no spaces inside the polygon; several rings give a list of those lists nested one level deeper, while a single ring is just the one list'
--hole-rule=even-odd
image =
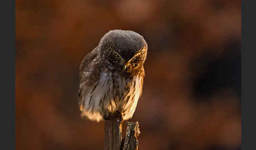
[{"label": "brown folded wing on the left side of the owl", "polygon": [[79,87],[78,87],[78,104],[83,107],[84,97],[88,87],[94,86],[100,77],[100,57],[99,48],[95,47],[88,53],[80,64]]}]

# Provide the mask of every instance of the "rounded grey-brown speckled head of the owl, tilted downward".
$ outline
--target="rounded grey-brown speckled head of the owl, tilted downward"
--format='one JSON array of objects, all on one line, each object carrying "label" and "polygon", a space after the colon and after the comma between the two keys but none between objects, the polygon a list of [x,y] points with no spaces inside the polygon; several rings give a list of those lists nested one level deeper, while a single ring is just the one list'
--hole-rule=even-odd
[{"label": "rounded grey-brown speckled head of the owl, tilted downward", "polygon": [[99,44],[102,60],[106,64],[125,74],[139,71],[147,54],[147,44],[144,38],[130,30],[111,30],[106,33]]}]

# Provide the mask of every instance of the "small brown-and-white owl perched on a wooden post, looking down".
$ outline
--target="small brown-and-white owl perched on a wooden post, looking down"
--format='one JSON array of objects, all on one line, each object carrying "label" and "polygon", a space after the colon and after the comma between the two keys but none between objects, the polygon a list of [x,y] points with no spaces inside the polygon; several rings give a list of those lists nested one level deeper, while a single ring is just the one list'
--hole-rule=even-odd
[{"label": "small brown-and-white owl perched on a wooden post, looking down", "polygon": [[146,55],[147,44],[140,34],[106,33],[80,65],[81,116],[99,122],[118,112],[122,120],[131,119],[142,94]]}]

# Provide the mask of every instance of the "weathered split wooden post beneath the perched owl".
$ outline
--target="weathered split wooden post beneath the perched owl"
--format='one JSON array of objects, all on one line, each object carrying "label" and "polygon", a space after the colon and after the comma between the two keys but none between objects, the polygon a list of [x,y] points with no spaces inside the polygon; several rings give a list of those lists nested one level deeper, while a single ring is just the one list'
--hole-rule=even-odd
[{"label": "weathered split wooden post beneath the perched owl", "polygon": [[113,114],[105,121],[104,150],[137,150],[140,135],[139,122],[127,122],[126,134],[122,139],[122,116]]}]

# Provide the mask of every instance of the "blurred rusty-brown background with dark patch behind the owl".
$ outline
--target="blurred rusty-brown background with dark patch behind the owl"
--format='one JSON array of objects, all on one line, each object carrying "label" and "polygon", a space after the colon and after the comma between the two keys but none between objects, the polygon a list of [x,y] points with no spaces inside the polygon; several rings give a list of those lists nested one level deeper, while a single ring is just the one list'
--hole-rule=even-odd
[{"label": "blurred rusty-brown background with dark patch behind the owl", "polygon": [[81,60],[112,29],[149,47],[130,120],[140,150],[240,149],[237,0],[16,0],[16,149],[103,149],[104,123],[80,118],[76,91]]}]

